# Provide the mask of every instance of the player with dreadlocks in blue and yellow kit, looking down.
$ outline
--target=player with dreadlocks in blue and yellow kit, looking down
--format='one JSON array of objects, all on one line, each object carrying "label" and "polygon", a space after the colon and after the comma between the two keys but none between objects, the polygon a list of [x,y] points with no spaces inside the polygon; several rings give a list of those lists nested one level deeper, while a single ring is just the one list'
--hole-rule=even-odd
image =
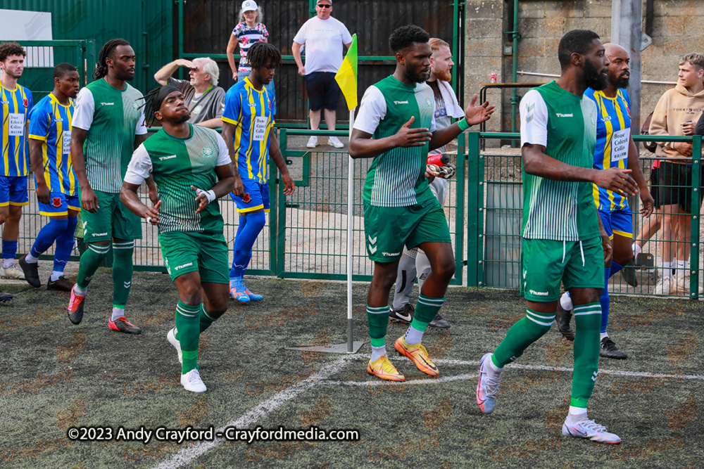
[{"label": "player with dreadlocks in blue and yellow kit, looking down", "polygon": [[230,296],[240,303],[263,300],[262,295],[255,295],[246,287],[244,272],[252,257],[252,247],[266,223],[264,214],[269,211],[267,168],[270,154],[281,172],[284,195],[294,193],[294,181],[272,132],[274,98],[265,89],[281,63],[281,54],[272,44],[257,42],[249,49],[247,59],[252,68],[249,77],[227,91],[222,113],[222,136],[237,180],[231,195],[239,212],[230,270]]}]

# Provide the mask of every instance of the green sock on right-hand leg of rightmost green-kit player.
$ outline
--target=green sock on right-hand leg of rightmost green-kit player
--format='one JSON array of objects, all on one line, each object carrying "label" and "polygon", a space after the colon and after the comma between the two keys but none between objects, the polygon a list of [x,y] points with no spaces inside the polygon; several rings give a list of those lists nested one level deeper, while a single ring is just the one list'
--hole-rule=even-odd
[{"label": "green sock on right-hand leg of rightmost green-kit player", "polygon": [[580,304],[574,307],[574,375],[570,406],[586,409],[599,371],[599,331],[601,330],[601,304]]}]

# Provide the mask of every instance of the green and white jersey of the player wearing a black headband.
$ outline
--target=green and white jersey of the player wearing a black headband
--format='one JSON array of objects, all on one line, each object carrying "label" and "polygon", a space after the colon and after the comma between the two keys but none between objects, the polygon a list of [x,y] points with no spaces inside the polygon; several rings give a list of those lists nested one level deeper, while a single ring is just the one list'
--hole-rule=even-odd
[{"label": "green and white jersey of the player wearing a black headband", "polygon": [[199,203],[191,186],[208,191],[218,182],[216,166],[231,165],[225,141],[218,132],[189,124],[191,135],[178,139],[160,129],[134,150],[125,182],[142,184],[149,174],[159,191],[159,233],[195,231],[222,233],[218,201],[196,213]]}]

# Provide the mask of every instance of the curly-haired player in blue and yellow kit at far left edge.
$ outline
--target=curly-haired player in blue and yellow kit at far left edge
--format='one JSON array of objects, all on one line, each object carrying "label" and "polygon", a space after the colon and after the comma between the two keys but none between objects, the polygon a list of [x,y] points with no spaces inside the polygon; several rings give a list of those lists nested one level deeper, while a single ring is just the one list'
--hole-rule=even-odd
[{"label": "curly-haired player in blue and yellow kit at far left edge", "polygon": [[[0,44],[0,101],[3,102],[0,106],[0,224],[5,225],[2,231],[0,276],[23,280],[25,275],[15,266],[15,254],[22,207],[30,203],[27,193],[27,176],[30,172],[27,135],[32,92],[18,84],[17,80],[25,70],[26,55],[22,46],[16,42]],[[12,295],[0,294],[0,301],[11,297]]]}]

